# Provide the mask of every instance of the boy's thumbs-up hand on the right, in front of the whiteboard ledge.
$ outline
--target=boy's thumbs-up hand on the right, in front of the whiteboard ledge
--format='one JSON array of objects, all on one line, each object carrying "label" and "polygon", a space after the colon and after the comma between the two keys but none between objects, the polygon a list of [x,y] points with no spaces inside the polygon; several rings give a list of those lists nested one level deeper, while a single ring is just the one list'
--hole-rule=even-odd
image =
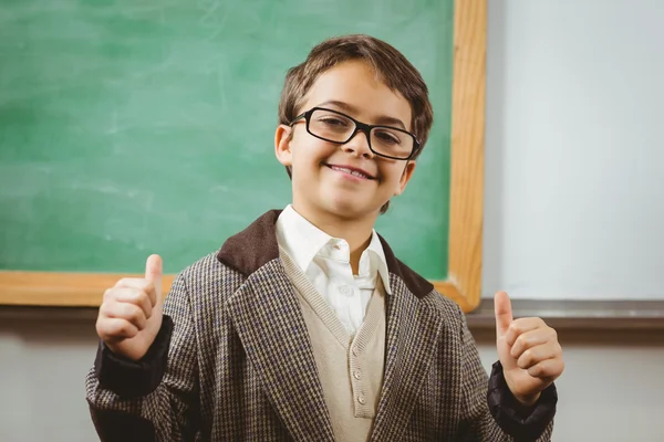
[{"label": "boy's thumbs-up hand on the right, in front of the whiteboard ledge", "polygon": [[532,406],[564,369],[556,330],[541,318],[512,318],[505,292],[494,298],[498,356],[507,387],[525,406]]}]

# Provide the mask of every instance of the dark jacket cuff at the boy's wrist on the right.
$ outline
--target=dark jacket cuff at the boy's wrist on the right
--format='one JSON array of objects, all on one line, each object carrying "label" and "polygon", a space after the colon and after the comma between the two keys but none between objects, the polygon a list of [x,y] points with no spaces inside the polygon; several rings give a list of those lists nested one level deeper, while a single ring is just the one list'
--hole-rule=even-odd
[{"label": "dark jacket cuff at the boy's wrist on the right", "polygon": [[494,364],[487,394],[489,410],[502,431],[517,441],[535,441],[556,415],[558,392],[549,386],[532,407],[525,407],[511,393],[505,381],[502,365]]}]

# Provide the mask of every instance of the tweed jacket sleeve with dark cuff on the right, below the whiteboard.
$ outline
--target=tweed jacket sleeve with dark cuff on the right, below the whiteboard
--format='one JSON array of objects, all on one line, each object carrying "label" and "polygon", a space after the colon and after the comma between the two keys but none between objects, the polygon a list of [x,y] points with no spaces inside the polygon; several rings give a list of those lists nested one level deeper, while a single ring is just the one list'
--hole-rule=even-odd
[{"label": "tweed jacket sleeve with dark cuff on the right, below the whiteboard", "polygon": [[532,407],[521,406],[502,376],[500,362],[494,364],[491,377],[481,366],[475,339],[461,316],[461,441],[546,442],[551,440],[558,396],[551,385]]}]

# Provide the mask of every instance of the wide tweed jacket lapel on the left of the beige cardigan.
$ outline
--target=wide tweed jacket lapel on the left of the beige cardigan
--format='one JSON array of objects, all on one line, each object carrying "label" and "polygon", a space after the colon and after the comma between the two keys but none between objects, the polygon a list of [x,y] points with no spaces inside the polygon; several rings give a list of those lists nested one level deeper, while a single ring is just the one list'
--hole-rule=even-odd
[{"label": "wide tweed jacket lapel on the left of the beige cardigan", "polygon": [[281,262],[252,273],[226,309],[292,438],[334,441],[307,325]]}]

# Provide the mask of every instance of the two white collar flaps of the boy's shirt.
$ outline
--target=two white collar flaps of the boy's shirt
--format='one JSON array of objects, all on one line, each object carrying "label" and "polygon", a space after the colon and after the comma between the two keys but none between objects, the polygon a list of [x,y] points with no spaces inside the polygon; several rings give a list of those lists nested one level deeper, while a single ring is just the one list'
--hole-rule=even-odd
[{"label": "two white collar flaps of the boy's shirt", "polygon": [[[277,220],[277,242],[286,253],[293,260],[300,270],[307,273],[307,269],[317,254],[335,239],[330,236],[293,209],[291,204],[279,214]],[[360,276],[369,276],[371,269],[376,269],[383,280],[385,293],[392,294],[390,287],[390,272],[383,244],[375,230],[372,229],[371,241],[360,259]]]}]

